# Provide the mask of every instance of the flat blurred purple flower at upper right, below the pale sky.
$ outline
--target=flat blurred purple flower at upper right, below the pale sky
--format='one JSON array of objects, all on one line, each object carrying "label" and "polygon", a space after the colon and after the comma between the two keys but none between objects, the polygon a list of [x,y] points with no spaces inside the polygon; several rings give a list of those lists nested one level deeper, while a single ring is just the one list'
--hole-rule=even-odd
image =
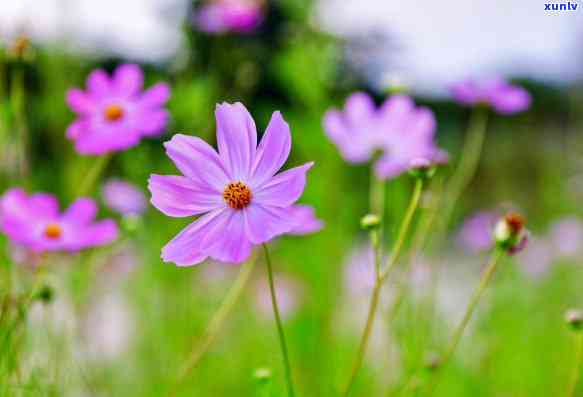
[{"label": "flat blurred purple flower at upper right, below the pale sky", "polygon": [[450,88],[454,99],[467,106],[485,104],[500,114],[522,112],[530,107],[530,94],[502,78],[483,81],[464,80]]}]

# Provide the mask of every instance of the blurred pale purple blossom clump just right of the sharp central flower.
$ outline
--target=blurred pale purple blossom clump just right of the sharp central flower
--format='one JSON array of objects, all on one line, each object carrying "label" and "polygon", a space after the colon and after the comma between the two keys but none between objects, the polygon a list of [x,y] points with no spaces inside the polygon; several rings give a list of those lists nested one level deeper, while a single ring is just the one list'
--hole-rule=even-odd
[{"label": "blurred pale purple blossom clump just right of the sharp central flower", "polygon": [[324,116],[328,138],[350,163],[365,163],[375,152],[381,157],[375,172],[381,179],[409,170],[418,159],[431,163],[447,161],[447,154],[434,142],[436,122],[431,110],[416,107],[404,95],[394,95],[380,108],[365,93],[352,94],[344,111],[333,109]]}]

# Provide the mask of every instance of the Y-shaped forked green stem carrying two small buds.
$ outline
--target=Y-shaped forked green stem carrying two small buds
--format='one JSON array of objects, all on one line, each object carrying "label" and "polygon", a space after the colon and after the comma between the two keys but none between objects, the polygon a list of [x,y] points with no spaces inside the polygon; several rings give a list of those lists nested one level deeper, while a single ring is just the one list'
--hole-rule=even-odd
[{"label": "Y-shaped forked green stem carrying two small buds", "polygon": [[352,365],[352,371],[350,372],[350,377],[348,379],[348,383],[344,389],[343,395],[348,396],[350,395],[350,391],[352,386],[354,385],[354,381],[358,375],[358,371],[360,367],[362,367],[362,362],[364,360],[364,355],[366,353],[366,349],[368,347],[369,339],[372,334],[372,329],[374,325],[374,320],[376,318],[379,297],[383,282],[386,280],[387,276],[389,275],[390,270],[394,267],[397,263],[401,250],[403,248],[403,243],[405,238],[408,234],[409,228],[411,226],[411,221],[413,219],[413,215],[415,214],[415,210],[419,206],[419,199],[421,198],[421,192],[423,190],[423,180],[417,179],[415,181],[415,188],[413,190],[413,195],[411,196],[411,201],[405,213],[405,217],[401,222],[401,227],[399,228],[399,234],[397,236],[397,240],[395,241],[395,245],[393,248],[393,252],[391,257],[388,260],[387,265],[385,266],[384,270],[381,270],[381,260],[382,257],[379,254],[380,249],[377,245],[379,245],[378,235],[371,233],[371,243],[373,245],[373,249],[375,252],[375,269],[376,277],[375,283],[372,291],[371,301],[368,309],[368,315],[366,318],[366,324],[364,326],[364,330],[362,333],[362,337],[360,339],[360,344],[358,346],[358,352],[356,354],[356,358]]}]

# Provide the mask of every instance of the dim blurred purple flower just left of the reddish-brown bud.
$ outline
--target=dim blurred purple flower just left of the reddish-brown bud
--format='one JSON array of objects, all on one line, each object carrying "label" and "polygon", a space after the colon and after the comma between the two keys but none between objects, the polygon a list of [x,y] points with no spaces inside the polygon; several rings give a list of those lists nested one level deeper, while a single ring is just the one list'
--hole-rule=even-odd
[{"label": "dim blurred purple flower just left of the reddish-brown bud", "polygon": [[464,220],[458,233],[458,244],[469,252],[490,249],[494,245],[492,231],[500,214],[496,211],[479,211]]}]

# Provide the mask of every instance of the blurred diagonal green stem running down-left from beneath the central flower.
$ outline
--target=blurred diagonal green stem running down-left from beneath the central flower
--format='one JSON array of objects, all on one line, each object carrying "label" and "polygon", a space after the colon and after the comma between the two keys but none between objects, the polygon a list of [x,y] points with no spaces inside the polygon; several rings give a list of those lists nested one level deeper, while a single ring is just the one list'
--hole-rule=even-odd
[{"label": "blurred diagonal green stem running down-left from beneath the central flower", "polygon": [[188,356],[188,360],[184,364],[184,367],[180,371],[180,375],[178,376],[176,383],[172,387],[170,393],[168,393],[169,397],[176,395],[178,388],[188,375],[192,373],[192,371],[196,368],[202,357],[204,357],[205,353],[208,351],[209,347],[217,338],[220,330],[223,328],[223,324],[229,313],[233,310],[235,304],[239,301],[241,294],[243,293],[245,286],[247,285],[251,274],[253,273],[253,268],[255,267],[255,259],[251,259],[247,261],[239,271],[239,275],[235,280],[234,284],[231,286],[231,289],[227,293],[227,296],[221,303],[221,306],[214,314],[213,318],[209,322],[206,330],[202,334],[202,336],[197,339],[196,344],[194,345],[192,351]]}]

